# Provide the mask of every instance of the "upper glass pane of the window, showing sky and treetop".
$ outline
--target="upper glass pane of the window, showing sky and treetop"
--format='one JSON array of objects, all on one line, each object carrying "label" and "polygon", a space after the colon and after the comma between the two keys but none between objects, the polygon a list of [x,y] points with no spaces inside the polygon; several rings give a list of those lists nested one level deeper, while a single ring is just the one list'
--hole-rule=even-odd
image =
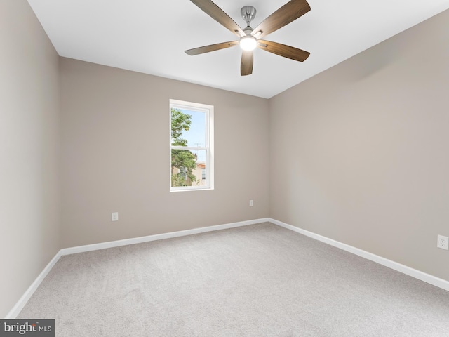
[{"label": "upper glass pane of the window, showing sky and treetop", "polygon": [[206,147],[206,112],[172,108],[171,145]]}]

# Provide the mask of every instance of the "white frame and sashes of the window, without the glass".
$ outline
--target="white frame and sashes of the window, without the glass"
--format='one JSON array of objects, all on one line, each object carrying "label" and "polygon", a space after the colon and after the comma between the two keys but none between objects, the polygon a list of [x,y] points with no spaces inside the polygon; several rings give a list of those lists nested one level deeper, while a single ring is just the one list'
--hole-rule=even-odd
[{"label": "white frame and sashes of the window, without the glass", "polygon": [[[194,146],[173,146],[171,145],[171,110],[172,108],[180,110],[194,110],[198,112],[204,112],[206,114],[206,127],[205,127],[205,145],[204,147],[194,147]],[[180,191],[197,191],[197,190],[213,190],[214,189],[214,169],[213,169],[213,105],[206,105],[201,103],[192,103],[184,100],[172,100],[170,99],[170,153],[169,153],[169,164],[170,164],[170,192],[180,192]],[[206,150],[206,185],[202,186],[180,186],[172,187],[171,185],[171,150]],[[201,171],[200,171],[201,173]],[[201,180],[201,174],[199,179]]]}]

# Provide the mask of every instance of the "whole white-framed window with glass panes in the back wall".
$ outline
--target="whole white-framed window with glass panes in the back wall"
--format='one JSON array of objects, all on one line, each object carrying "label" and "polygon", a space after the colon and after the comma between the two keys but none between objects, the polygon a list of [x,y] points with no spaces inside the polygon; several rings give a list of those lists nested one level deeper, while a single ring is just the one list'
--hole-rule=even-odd
[{"label": "whole white-framed window with glass panes in the back wall", "polygon": [[170,191],[213,190],[213,106],[170,100]]}]

